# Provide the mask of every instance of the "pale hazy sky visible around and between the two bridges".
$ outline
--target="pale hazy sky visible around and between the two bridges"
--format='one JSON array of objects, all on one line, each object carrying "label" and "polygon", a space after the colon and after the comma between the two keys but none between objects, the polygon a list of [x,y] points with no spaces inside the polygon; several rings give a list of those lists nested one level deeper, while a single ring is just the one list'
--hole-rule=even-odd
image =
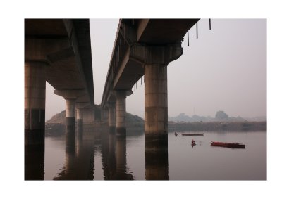
[{"label": "pale hazy sky visible around and between the two bridges", "polygon": [[[100,104],[118,19],[90,19],[95,103]],[[183,41],[183,56],[168,65],[168,116],[266,116],[266,19],[201,19]],[[46,119],[65,109],[47,84]],[[144,84],[126,100],[144,117]]]}]

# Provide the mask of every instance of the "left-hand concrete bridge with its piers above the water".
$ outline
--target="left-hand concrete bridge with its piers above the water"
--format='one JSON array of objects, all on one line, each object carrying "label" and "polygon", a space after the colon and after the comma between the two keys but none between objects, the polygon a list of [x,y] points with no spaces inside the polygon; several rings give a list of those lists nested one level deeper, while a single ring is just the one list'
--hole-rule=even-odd
[{"label": "left-hand concrete bridge with its piers above the water", "polygon": [[66,99],[71,136],[75,112],[94,120],[88,19],[25,19],[25,146],[44,146],[46,81]]}]

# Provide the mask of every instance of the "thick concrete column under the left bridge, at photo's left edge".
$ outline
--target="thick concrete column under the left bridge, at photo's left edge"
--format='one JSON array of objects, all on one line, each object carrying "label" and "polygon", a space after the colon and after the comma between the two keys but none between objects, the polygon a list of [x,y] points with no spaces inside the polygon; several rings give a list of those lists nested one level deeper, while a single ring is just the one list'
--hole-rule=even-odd
[{"label": "thick concrete column under the left bridge, at photo's left edge", "polygon": [[25,145],[44,147],[46,63],[25,61]]}]

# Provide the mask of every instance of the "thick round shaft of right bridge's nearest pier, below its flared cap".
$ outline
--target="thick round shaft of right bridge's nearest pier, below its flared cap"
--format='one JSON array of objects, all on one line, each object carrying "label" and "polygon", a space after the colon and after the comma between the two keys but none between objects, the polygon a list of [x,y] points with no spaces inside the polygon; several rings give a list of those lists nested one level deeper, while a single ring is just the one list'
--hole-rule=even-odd
[{"label": "thick round shaft of right bridge's nearest pier, below its flared cap", "polygon": [[145,65],[146,147],[168,146],[167,64]]}]

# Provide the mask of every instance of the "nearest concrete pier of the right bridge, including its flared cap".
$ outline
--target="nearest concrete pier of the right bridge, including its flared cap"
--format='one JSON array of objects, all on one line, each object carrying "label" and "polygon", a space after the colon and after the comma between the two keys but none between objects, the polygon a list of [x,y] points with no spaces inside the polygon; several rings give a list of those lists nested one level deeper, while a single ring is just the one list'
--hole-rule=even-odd
[{"label": "nearest concrete pier of the right bridge, including its flared cap", "polygon": [[181,42],[164,46],[135,44],[130,47],[130,57],[145,63],[146,151],[168,148],[167,65],[182,53]]}]

